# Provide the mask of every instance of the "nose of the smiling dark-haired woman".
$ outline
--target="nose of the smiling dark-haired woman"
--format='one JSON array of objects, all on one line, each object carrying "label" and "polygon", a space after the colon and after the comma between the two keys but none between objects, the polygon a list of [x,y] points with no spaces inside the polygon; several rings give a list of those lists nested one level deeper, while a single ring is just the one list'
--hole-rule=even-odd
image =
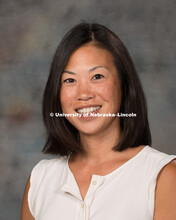
[{"label": "nose of the smiling dark-haired woman", "polygon": [[79,83],[77,88],[77,99],[80,101],[87,101],[95,97],[95,93],[89,83]]}]

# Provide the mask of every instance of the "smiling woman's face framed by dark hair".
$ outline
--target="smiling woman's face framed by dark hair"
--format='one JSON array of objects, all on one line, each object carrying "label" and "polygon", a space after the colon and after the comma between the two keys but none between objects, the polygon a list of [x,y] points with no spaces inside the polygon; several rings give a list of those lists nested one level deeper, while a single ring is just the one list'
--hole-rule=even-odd
[{"label": "smiling woman's face framed by dark hair", "polygon": [[67,117],[80,133],[117,131],[118,117],[91,116],[91,113],[116,114],[120,109],[120,81],[111,53],[93,44],[77,49],[63,72],[60,100],[63,113],[81,114]]}]

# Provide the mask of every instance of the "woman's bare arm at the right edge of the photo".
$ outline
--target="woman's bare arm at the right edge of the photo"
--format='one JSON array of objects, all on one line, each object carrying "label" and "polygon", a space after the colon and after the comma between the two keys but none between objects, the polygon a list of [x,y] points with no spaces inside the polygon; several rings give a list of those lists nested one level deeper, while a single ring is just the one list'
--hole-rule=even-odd
[{"label": "woman's bare arm at the right edge of the photo", "polygon": [[176,219],[176,160],[159,173],[155,191],[154,220]]}]

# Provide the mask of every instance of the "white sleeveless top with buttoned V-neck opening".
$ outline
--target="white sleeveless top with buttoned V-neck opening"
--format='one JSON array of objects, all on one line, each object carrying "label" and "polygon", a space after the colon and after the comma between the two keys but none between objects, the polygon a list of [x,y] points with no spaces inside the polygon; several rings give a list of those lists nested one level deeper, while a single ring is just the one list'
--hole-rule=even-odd
[{"label": "white sleeveless top with buttoned V-neck opening", "polygon": [[42,160],[31,173],[30,212],[35,220],[152,220],[157,175],[174,158],[145,146],[110,174],[92,175],[84,201],[68,158]]}]

